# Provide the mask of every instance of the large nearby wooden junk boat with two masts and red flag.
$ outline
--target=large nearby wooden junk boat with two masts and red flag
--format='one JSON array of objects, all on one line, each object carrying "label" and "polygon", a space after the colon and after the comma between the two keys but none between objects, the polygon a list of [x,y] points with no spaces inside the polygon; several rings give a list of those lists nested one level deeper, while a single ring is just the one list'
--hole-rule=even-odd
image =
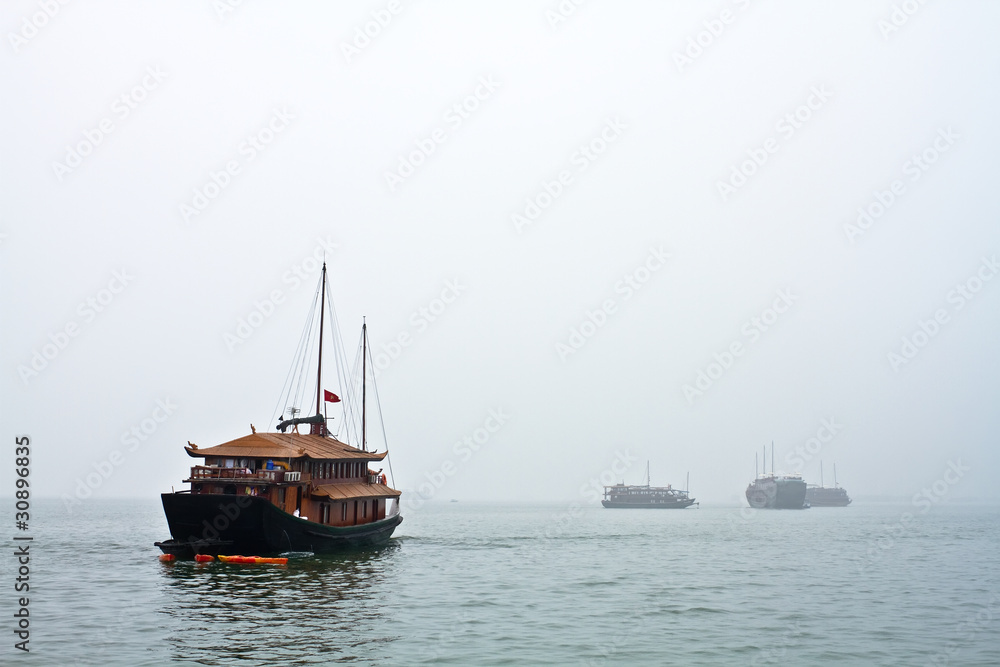
[{"label": "large nearby wooden junk boat with two masts and red flag", "polygon": [[[296,416],[299,410],[289,407],[301,397],[296,385],[300,389],[305,386],[301,373],[290,372],[292,381],[282,395],[289,418],[278,424],[278,432],[258,433],[251,424],[249,435],[221,445],[200,448],[189,442],[184,448],[188,456],[203,461],[193,466],[184,480],[190,489],[160,496],[171,539],[155,544],[164,553],[193,558],[195,554],[260,556],[376,547],[385,544],[403,520],[399,513],[400,492],[388,485],[381,467],[372,469],[383,461],[388,464],[388,450],[376,453],[367,446],[365,376],[371,360],[365,325],[359,345],[361,428],[357,436],[361,447],[342,442],[327,428],[328,418],[323,412],[327,403],[344,407],[342,427],[348,430],[352,425],[357,428],[357,415],[350,410],[355,405],[350,396],[356,387],[349,380],[345,382],[341,377],[342,391],[347,390],[343,402],[322,389],[326,285],[324,263],[317,294],[316,414],[300,418]],[[293,371],[302,371],[307,365],[315,307],[314,302]],[[330,308],[336,325],[332,301]],[[336,333],[336,326],[332,328]],[[339,343],[339,336],[334,341]],[[337,351],[342,349],[341,345]],[[338,354],[336,358],[338,374],[343,371],[346,375],[346,356]],[[308,433],[300,433],[300,425],[307,425]]]}]

